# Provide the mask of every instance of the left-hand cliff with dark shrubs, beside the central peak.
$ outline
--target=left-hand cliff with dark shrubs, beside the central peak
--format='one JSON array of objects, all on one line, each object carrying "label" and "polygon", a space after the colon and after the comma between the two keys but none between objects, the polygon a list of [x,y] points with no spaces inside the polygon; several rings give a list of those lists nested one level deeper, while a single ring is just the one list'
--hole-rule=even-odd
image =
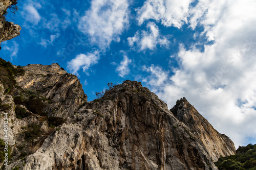
[{"label": "left-hand cliff with dark shrubs, beside the central peak", "polygon": [[57,126],[69,121],[87,95],[77,77],[58,64],[31,64],[22,67],[24,74],[10,76],[8,70],[14,68],[0,66],[0,128],[4,130],[3,115],[8,113],[12,161],[24,163],[24,157],[34,154]]}]

